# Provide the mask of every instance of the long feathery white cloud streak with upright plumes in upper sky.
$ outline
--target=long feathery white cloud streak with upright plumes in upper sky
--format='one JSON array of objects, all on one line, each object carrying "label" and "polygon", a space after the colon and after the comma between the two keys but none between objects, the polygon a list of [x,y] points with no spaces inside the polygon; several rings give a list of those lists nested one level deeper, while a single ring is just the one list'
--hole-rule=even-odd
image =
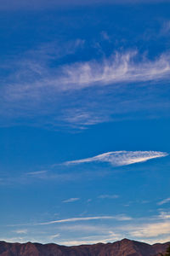
[{"label": "long feathery white cloud streak with upright plumes in upper sky", "polygon": [[[137,61],[137,59],[140,59]],[[29,64],[30,65],[30,64]],[[34,67],[32,67],[34,68]],[[31,71],[35,77],[34,71]],[[26,73],[26,71],[25,71]],[[55,74],[56,73],[56,74]],[[20,76],[19,76],[20,77]],[[77,62],[71,65],[64,65],[55,72],[43,73],[41,79],[23,85],[23,81],[18,84],[6,86],[5,96],[7,101],[17,101],[23,98],[34,98],[58,95],[59,91],[81,90],[91,86],[102,86],[117,83],[150,82],[168,79],[170,77],[170,55],[161,55],[150,61],[145,56],[139,56],[137,51],[126,53],[116,53],[108,59],[99,61]],[[21,82],[21,84],[20,84]],[[42,94],[42,88],[46,94]],[[5,90],[4,90],[5,93]],[[44,100],[44,98],[43,98]]]}]

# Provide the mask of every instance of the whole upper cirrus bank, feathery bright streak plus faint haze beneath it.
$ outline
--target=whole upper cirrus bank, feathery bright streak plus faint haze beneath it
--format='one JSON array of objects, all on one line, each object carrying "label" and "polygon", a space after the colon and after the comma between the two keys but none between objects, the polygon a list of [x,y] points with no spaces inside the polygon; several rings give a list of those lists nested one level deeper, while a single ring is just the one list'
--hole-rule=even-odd
[{"label": "whole upper cirrus bank, feathery bright streak plus faint haze beneath it", "polygon": [[[77,40],[75,49],[82,44],[83,40]],[[149,59],[128,50],[59,67],[49,67],[47,55],[51,53],[44,55],[37,63],[25,60],[17,67],[19,73],[11,74],[1,87],[1,123],[31,119],[37,125],[84,129],[114,120],[113,114],[133,113],[134,104],[135,112],[170,108],[167,99],[161,98],[160,103],[151,96],[156,84],[170,77],[169,53]],[[162,84],[156,87],[159,90]]]}]

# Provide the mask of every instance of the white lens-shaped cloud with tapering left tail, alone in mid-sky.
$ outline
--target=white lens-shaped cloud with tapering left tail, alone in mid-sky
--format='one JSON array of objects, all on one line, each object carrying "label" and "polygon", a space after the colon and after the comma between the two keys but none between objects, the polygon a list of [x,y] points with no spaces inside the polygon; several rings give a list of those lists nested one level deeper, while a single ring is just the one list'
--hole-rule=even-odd
[{"label": "white lens-shaped cloud with tapering left tail, alone in mid-sky", "polygon": [[82,160],[67,161],[65,162],[65,165],[77,165],[90,162],[108,162],[111,166],[127,166],[158,157],[165,157],[167,155],[167,153],[159,151],[113,151]]}]

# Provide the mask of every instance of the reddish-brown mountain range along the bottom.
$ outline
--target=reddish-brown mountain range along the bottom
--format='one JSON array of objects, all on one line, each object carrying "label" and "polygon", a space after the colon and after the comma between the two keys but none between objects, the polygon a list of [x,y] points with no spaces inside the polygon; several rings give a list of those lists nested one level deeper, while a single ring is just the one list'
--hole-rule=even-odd
[{"label": "reddish-brown mountain range along the bottom", "polygon": [[65,247],[53,243],[20,244],[0,241],[0,256],[158,256],[159,253],[165,253],[169,244],[170,242],[149,245],[123,239],[107,244]]}]

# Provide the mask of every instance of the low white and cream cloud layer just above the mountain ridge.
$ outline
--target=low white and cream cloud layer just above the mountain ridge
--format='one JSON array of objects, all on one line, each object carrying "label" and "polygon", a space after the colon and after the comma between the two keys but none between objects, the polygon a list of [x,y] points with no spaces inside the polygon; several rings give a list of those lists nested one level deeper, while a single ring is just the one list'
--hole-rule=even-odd
[{"label": "low white and cream cloud layer just above the mountain ridge", "polygon": [[[155,243],[158,241],[168,241],[170,228],[169,219],[169,212],[159,212],[158,215],[153,215],[147,218],[131,218],[125,214],[120,214],[111,216],[63,218],[49,222],[21,225],[29,226],[29,229],[34,229],[34,227],[38,225],[44,230],[48,229],[48,225],[59,224],[57,225],[59,233],[51,234],[51,230],[53,230],[52,227],[50,230],[47,230],[47,232],[50,232],[48,238],[50,239],[49,241],[55,241],[65,245],[113,242],[122,239],[123,236],[133,240]],[[118,224],[117,221],[121,221],[123,224]],[[23,235],[27,234],[27,230],[14,230],[14,232]],[[65,239],[62,238],[63,234],[69,234],[70,232],[71,234],[72,232],[75,232],[76,236],[73,236],[70,239],[66,235]]]}]

